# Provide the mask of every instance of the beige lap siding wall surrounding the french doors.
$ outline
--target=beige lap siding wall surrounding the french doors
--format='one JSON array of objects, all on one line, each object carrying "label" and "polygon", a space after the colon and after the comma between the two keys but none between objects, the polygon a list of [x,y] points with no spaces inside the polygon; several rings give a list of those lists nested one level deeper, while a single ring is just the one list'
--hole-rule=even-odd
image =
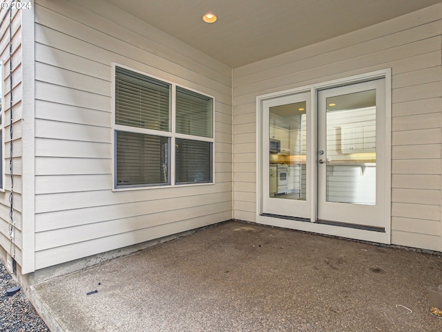
[{"label": "beige lap siding wall surrounding the french doors", "polygon": [[234,217],[256,216],[258,95],[392,68],[392,243],[441,250],[441,17],[438,4],[236,68]]}]

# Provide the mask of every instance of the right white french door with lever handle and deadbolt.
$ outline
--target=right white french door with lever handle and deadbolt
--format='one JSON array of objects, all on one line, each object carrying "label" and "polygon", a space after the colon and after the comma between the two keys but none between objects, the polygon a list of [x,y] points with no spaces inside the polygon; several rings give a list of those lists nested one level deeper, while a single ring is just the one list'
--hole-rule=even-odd
[{"label": "right white french door with lever handle and deadbolt", "polygon": [[318,219],[385,225],[385,80],[318,91]]}]

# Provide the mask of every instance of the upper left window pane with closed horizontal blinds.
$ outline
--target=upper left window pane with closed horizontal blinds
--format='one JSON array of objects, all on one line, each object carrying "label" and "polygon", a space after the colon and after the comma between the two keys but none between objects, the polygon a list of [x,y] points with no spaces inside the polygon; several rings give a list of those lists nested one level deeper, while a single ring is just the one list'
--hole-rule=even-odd
[{"label": "upper left window pane with closed horizontal blinds", "polygon": [[171,84],[115,68],[115,123],[170,130]]}]

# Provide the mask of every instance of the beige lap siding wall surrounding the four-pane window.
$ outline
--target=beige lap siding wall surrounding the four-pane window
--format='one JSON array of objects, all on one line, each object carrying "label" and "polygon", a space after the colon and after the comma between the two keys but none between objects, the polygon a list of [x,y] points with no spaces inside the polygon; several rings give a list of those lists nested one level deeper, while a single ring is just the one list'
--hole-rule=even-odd
[{"label": "beige lap siding wall surrounding the four-pane window", "polygon": [[[232,218],[230,68],[104,1],[36,1],[35,59],[36,269]],[[213,95],[214,185],[112,191],[112,62]]]}]

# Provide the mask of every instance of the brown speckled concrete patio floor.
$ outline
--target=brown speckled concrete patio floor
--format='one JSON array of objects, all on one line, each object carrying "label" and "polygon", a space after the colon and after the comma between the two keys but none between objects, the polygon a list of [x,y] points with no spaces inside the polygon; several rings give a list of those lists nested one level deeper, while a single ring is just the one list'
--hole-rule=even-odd
[{"label": "brown speckled concrete patio floor", "polygon": [[427,290],[439,284],[441,254],[229,221],[32,297],[52,332],[436,332]]}]

